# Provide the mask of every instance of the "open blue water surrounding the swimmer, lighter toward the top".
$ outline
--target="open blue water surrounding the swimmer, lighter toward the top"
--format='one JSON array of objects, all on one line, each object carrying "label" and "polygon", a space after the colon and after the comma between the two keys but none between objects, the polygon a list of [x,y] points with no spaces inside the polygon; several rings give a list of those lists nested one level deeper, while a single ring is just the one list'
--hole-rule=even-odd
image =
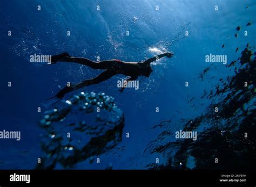
[{"label": "open blue water surrounding the swimmer, lighter toward the top", "polygon": [[[38,5],[41,5],[40,11]],[[217,11],[215,5],[218,5]],[[174,117],[178,121],[200,115],[211,103],[211,99],[199,98],[204,89],[210,90],[220,78],[233,75],[224,64],[214,63],[205,81],[199,81],[199,74],[210,66],[205,62],[205,55],[225,54],[229,64],[240,57],[247,43],[255,46],[255,1],[4,0],[0,10],[0,130],[22,134],[21,141],[0,140],[0,169],[35,168],[37,158],[43,155],[38,121],[47,110],[42,105],[44,100],[55,95],[66,82],[80,82],[102,71],[75,63],[42,66],[42,63],[29,62],[31,54],[68,52],[91,60],[99,55],[100,60],[137,62],[167,51],[174,53],[171,59],[164,57],[151,64],[153,73],[149,78],[139,77],[138,90],[127,88],[120,93],[117,80],[125,76],[117,75],[65,96],[68,98],[80,91],[105,92],[116,99],[125,114],[122,141],[117,146],[124,150],[114,148],[98,156],[100,164],[86,160],[77,164],[77,169],[105,169],[110,163],[113,169],[144,169],[155,162],[156,157],[160,164],[166,162],[165,154],[144,152],[163,131],[150,128],[164,119]],[[246,26],[249,22],[252,25]],[[240,31],[235,30],[237,26],[241,27]],[[221,48],[223,44],[225,47]],[[239,51],[235,53],[237,47]],[[7,87],[9,81],[12,87]],[[189,87],[185,87],[186,81]],[[195,106],[191,107],[187,101],[193,97]],[[42,107],[41,113],[37,107]],[[168,125],[170,132],[183,128],[180,123]],[[130,138],[126,138],[127,132]],[[190,157],[190,160],[193,159]],[[193,163],[190,167],[193,168]]]}]

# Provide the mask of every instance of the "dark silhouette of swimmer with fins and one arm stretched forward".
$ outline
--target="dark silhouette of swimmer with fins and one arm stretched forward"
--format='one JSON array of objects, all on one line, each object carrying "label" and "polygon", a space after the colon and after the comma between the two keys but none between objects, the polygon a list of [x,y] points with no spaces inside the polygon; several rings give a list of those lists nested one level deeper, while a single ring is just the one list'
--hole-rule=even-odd
[{"label": "dark silhouette of swimmer with fins and one arm stretched forward", "polygon": [[[126,81],[136,80],[138,76],[149,77],[153,71],[150,67],[150,63],[164,56],[172,57],[173,53],[163,53],[163,54],[154,56],[150,59],[147,59],[143,62],[124,62],[117,59],[95,62],[89,59],[85,59],[83,57],[70,56],[66,52],[59,55],[53,55],[51,57],[51,64],[55,64],[57,62],[75,62],[75,63],[83,64],[85,66],[89,66],[92,69],[105,69],[103,73],[99,74],[95,78],[85,80],[76,85],[71,84],[70,87],[68,86],[64,87],[62,90],[60,90],[57,93],[56,96],[53,96],[53,97],[62,99],[64,95],[68,92],[77,90],[79,88],[87,87],[89,85],[98,84],[100,82],[108,80],[109,78],[117,74],[123,74],[123,75],[129,76],[129,78],[126,78]],[[123,92],[123,90],[124,88],[121,88],[119,91]]]}]

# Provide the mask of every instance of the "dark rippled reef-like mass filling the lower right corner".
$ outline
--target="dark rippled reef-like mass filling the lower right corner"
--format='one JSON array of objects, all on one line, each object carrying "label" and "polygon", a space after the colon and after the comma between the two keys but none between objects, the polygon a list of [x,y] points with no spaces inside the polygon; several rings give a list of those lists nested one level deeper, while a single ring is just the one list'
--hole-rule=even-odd
[{"label": "dark rippled reef-like mass filling the lower right corner", "polygon": [[[253,58],[254,56],[254,58]],[[215,90],[206,90],[201,97],[211,99],[204,114],[186,119],[184,131],[198,131],[197,141],[191,139],[164,142],[161,133],[145,149],[145,153],[160,153],[164,164],[148,164],[151,169],[255,169],[256,167],[256,58],[250,47],[241,52],[238,60],[227,64],[234,68],[234,75],[221,78]],[[201,73],[203,75],[209,70]],[[215,112],[215,107],[219,112]],[[221,112],[220,112],[221,111]],[[172,120],[170,124],[174,123]],[[169,132],[169,133],[168,133]],[[218,158],[218,163],[215,163]],[[193,163],[193,167],[191,166]]]}]

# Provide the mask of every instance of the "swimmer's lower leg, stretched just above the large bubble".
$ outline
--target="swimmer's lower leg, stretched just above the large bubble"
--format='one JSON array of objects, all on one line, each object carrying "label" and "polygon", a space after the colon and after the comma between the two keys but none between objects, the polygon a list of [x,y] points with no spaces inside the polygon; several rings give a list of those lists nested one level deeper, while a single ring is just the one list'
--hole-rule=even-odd
[{"label": "swimmer's lower leg, stretched just above the large bubble", "polygon": [[116,75],[116,74],[113,73],[113,71],[105,70],[105,71],[103,71],[103,73],[99,74],[95,78],[91,78],[91,79],[85,80],[85,81],[80,82],[80,83],[78,83],[76,85],[71,85],[70,87],[68,87],[68,86],[64,87],[62,90],[60,90],[57,93],[56,97],[57,98],[63,98],[66,93],[69,93],[71,91],[77,90],[79,88],[87,87],[89,85],[98,84],[100,82],[108,80],[109,78],[111,78],[114,75]]}]

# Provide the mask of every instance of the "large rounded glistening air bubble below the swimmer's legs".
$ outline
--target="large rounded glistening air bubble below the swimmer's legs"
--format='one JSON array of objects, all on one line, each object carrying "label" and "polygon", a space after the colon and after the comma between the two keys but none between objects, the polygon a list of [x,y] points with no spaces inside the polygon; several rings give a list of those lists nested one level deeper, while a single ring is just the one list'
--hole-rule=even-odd
[{"label": "large rounded glistening air bubble below the swimmer's legs", "polygon": [[118,145],[124,113],[113,97],[81,92],[46,111],[40,126],[44,129],[41,147],[45,155],[36,169],[54,169],[56,164],[73,168]]}]

